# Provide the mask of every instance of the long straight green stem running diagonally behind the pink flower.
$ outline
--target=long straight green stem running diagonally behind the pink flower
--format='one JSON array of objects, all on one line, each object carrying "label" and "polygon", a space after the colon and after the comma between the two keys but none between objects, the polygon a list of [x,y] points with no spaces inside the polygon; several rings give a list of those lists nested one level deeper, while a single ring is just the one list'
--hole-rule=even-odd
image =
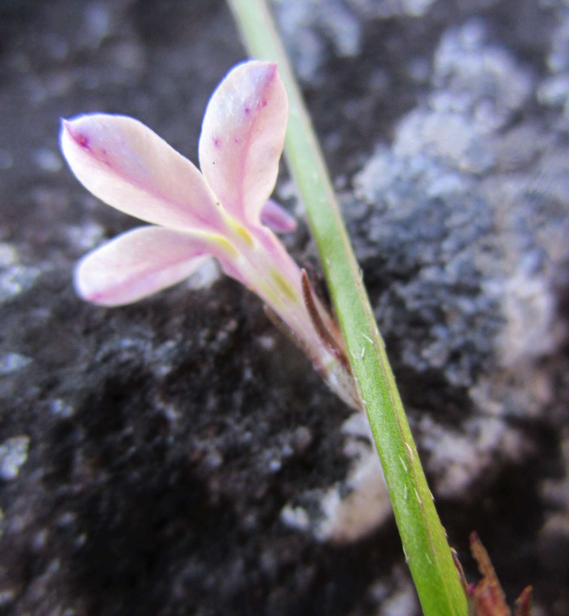
[{"label": "long straight green stem running diagonally behind the pink flower", "polygon": [[[228,0],[252,57],[278,62],[289,95],[285,153],[316,238],[397,527],[425,616],[466,616],[437,515],[326,164],[265,0]],[[365,351],[363,349],[365,348]]]}]

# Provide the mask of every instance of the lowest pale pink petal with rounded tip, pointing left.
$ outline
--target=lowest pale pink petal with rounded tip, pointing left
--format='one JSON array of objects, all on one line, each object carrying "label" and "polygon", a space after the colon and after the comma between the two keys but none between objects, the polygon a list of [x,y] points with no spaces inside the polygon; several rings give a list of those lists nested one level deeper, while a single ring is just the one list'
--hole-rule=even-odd
[{"label": "lowest pale pink petal with rounded tip, pointing left", "polygon": [[129,304],[193,274],[209,258],[207,248],[190,233],[139,227],[83,257],[75,269],[75,288],[95,304]]}]

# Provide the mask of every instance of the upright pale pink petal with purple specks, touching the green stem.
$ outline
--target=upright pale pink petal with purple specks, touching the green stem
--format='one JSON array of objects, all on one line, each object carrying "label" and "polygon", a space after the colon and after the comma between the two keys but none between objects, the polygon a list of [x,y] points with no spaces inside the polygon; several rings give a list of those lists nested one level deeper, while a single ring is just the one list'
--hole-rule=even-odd
[{"label": "upright pale pink petal with purple specks, touching the green stem", "polygon": [[209,100],[200,136],[200,166],[225,209],[259,222],[285,143],[288,97],[276,64],[244,62]]}]

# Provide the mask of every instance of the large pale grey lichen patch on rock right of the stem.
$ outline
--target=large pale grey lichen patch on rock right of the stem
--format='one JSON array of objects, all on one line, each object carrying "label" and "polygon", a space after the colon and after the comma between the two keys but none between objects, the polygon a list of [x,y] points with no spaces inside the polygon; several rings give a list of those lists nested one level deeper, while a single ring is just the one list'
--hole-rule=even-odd
[{"label": "large pale grey lichen patch on rock right of the stem", "polygon": [[535,418],[555,404],[558,373],[543,362],[567,339],[557,288],[569,259],[569,149],[552,147],[535,121],[514,122],[532,84],[483,22],[451,28],[435,51],[428,99],[355,180],[369,203],[358,256],[365,268],[379,247],[395,279],[375,300],[381,330],[397,338],[402,365],[466,389],[479,415],[456,416],[456,432],[435,418],[419,423],[446,496],[498,458],[523,458],[528,445],[504,418]]}]

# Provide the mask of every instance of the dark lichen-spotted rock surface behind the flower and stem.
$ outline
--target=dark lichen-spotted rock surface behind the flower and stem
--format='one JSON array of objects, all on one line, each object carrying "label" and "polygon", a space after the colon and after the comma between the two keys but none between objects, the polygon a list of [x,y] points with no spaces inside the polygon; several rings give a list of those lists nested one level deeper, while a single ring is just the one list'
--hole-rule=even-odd
[{"label": "dark lichen-spotted rock surface behind the flower and stem", "polygon": [[[450,541],[474,578],[477,529],[510,598],[564,616],[569,5],[274,5]],[[71,288],[134,220],[67,171],[60,116],[132,115],[196,160],[243,57],[222,2],[0,0],[1,614],[418,614],[389,515],[341,527],[374,495],[361,426],[260,302]],[[314,261],[304,224],[285,241]]]}]

